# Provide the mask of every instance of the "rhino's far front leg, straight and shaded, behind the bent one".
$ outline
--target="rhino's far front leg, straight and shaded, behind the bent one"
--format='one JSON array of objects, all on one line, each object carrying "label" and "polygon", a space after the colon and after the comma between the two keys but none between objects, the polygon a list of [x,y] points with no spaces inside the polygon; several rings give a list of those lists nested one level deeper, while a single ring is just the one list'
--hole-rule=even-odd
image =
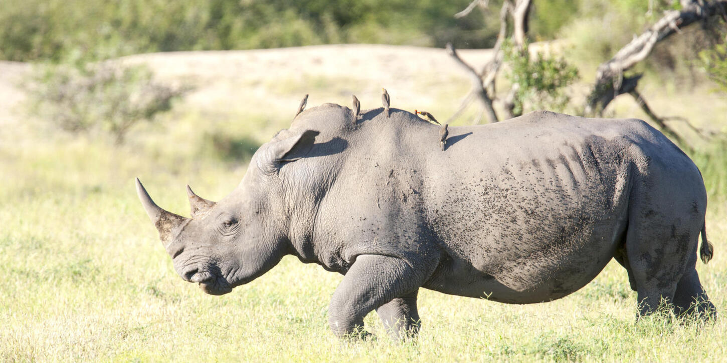
[{"label": "rhino's far front leg, straight and shaded, behind the bent one", "polygon": [[395,298],[376,309],[384,327],[394,338],[411,338],[419,333],[419,311],[417,311],[417,294],[413,293]]}]

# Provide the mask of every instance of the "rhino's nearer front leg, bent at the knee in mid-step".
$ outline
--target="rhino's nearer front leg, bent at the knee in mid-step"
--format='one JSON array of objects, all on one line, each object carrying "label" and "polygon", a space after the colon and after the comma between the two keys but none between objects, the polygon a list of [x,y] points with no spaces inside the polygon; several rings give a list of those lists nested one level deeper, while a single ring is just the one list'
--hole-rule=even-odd
[{"label": "rhino's nearer front leg, bent at the knee in mid-step", "polygon": [[[427,271],[417,269],[416,264],[401,258],[358,256],[331,298],[329,324],[333,333],[338,337],[354,333],[364,327],[366,314],[395,298],[409,297],[411,293],[414,293],[414,300],[408,298],[408,301],[414,304],[416,314],[416,291],[426,277]],[[396,308],[395,304],[385,307],[382,319],[402,314],[394,314],[394,310],[401,311],[401,308]]]}]

